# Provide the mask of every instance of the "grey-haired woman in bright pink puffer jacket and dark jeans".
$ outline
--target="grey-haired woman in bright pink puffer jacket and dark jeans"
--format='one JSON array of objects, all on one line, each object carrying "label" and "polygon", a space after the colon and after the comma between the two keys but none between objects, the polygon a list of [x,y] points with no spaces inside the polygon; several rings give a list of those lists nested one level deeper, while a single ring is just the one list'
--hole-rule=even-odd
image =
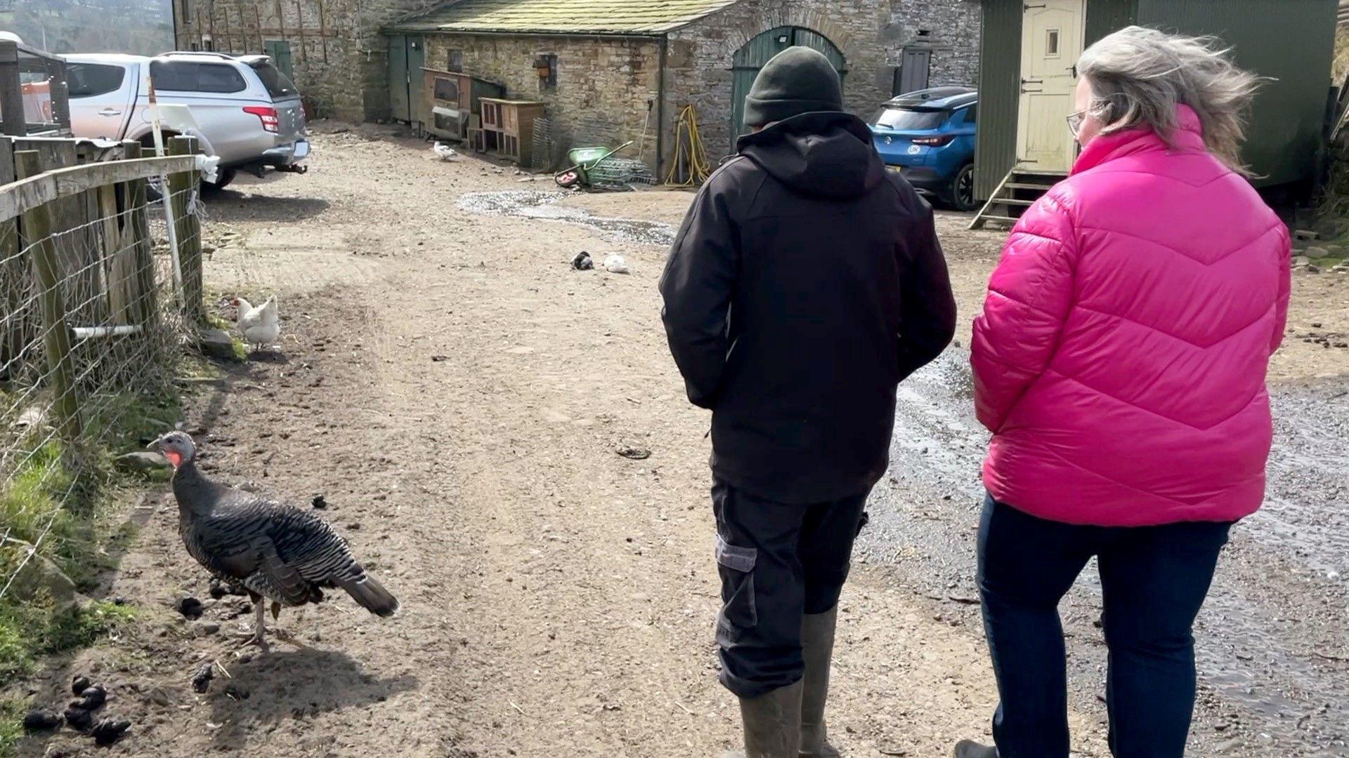
[{"label": "grey-haired woman in bright pink puffer jacket and dark jeans", "polygon": [[1183,755],[1191,627],[1228,529],[1264,498],[1290,237],[1240,169],[1256,78],[1209,40],[1140,27],[1079,70],[1082,154],[1012,231],[974,325],[1001,705],[997,749],[962,758],[1068,755],[1058,603],[1093,556],[1110,749]]}]

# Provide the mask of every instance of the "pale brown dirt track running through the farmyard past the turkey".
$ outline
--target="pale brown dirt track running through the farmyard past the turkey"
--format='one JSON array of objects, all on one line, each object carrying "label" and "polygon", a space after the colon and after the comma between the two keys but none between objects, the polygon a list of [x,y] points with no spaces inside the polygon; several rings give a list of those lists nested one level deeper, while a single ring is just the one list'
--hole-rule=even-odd
[{"label": "pale brown dirt track running through the farmyard past the turkey", "polygon": [[[208,282],[281,294],[291,339],[204,392],[188,426],[206,430],[205,461],[221,479],[301,504],[324,494],[325,517],[403,611],[379,620],[344,597],[287,611],[282,626],[310,649],[239,658],[224,638],[251,620],[239,599],[208,608],[216,634],[171,608],[208,597],[206,580],[178,542],[171,498],[159,498],[131,514],[140,538],[108,588],[143,607],[142,620],[51,672],[39,699],[59,701],[70,672],[93,672],[112,692],[108,711],[135,723],[113,755],[687,758],[730,747],[738,723],[711,634],[708,419],[684,402],[665,352],[654,287],[665,251],[459,206],[468,192],[548,187],[509,170],[438,163],[422,143],[360,132],[316,142],[308,175],[241,185],[210,205],[212,233],[232,228],[243,241],[214,254]],[[687,196],[568,202],[677,221]],[[969,317],[998,235],[942,224]],[[579,250],[622,252],[633,274],[572,271]],[[1344,372],[1306,349],[1319,356],[1313,368],[1280,371]],[[621,457],[625,446],[652,456]],[[909,496],[902,473],[882,506],[942,507],[939,494]],[[986,735],[996,700],[977,614],[967,585],[934,589],[920,568],[929,558],[881,537],[867,537],[844,591],[831,726],[850,758],[944,755]],[[229,677],[194,693],[192,674],[213,660]],[[1105,755],[1101,708],[1077,703],[1075,747]],[[1201,745],[1268,754],[1240,720],[1215,739],[1203,719],[1225,708],[1202,713]],[[70,732],[23,750],[96,754]]]}]

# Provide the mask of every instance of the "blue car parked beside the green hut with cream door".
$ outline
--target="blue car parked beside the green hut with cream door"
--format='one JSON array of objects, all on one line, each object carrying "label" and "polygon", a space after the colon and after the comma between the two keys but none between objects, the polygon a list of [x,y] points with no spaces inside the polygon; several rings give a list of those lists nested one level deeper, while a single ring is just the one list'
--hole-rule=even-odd
[{"label": "blue car parked beside the green hut with cream door", "polygon": [[901,94],[871,119],[876,148],[915,189],[956,210],[974,210],[978,92],[943,86]]}]

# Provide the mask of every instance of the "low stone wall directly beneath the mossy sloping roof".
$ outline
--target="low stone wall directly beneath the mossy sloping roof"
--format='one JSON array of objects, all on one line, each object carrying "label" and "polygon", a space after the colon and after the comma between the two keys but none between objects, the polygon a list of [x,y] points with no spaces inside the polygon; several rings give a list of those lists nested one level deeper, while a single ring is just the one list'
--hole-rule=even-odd
[{"label": "low stone wall directly beneath the mossy sloping roof", "polygon": [[[569,147],[633,140],[622,152],[656,162],[660,43],[610,36],[465,35],[426,36],[426,65],[444,69],[459,51],[461,70],[506,86],[513,100],[548,104],[554,158]],[[546,86],[534,67],[541,55],[557,57],[556,86]],[[648,104],[650,123],[648,125]]]}]

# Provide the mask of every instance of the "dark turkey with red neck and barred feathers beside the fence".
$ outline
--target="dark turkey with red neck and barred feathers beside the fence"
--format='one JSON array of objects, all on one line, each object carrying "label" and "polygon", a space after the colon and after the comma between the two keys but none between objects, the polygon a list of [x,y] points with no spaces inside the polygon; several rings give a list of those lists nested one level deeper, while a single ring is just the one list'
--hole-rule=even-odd
[{"label": "dark turkey with red neck and barred feathers beside the fence", "polygon": [[[252,643],[263,650],[263,599],[277,619],[282,606],[322,600],[322,588],[343,588],[370,612],[391,616],[398,600],[356,562],[347,541],[309,511],[206,479],[197,445],[182,432],[154,442],[174,467],[178,533],[188,553],[221,581],[243,585],[258,622]],[[277,630],[279,638],[286,638]]]}]

